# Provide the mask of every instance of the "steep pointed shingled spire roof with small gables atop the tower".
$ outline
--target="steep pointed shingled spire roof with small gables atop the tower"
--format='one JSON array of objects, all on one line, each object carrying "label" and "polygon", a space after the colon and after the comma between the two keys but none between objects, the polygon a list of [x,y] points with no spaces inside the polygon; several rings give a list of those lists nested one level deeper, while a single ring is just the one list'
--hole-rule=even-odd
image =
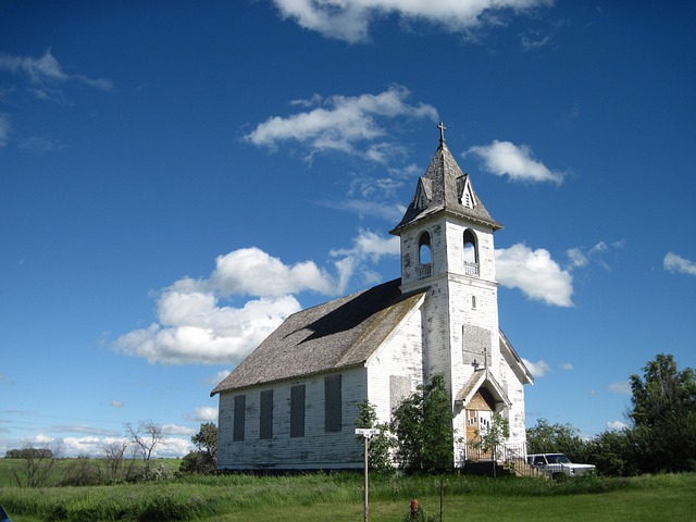
[{"label": "steep pointed shingled spire roof with small gables atop the tower", "polygon": [[494,231],[504,227],[502,223],[490,216],[474,191],[471,177],[461,171],[444,139],[440,139],[411,203],[391,234],[398,235],[400,228],[442,211],[484,224]]}]

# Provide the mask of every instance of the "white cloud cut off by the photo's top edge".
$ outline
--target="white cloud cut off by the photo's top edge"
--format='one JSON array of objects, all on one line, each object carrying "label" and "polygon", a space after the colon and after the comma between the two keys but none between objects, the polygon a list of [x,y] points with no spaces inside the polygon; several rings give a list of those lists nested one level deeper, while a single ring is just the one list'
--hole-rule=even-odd
[{"label": "white cloud cut off by the photo's top edge", "polygon": [[448,33],[468,33],[499,24],[502,12],[520,14],[551,0],[274,0],[285,18],[306,29],[350,44],[369,40],[370,25],[396,15],[405,23],[424,22]]}]

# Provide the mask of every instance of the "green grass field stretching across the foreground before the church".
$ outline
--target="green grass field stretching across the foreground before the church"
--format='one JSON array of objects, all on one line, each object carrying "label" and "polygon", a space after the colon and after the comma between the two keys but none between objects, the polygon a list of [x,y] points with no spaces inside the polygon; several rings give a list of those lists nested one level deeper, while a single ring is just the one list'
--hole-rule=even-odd
[{"label": "green grass field stretching across the foreground before the church", "polygon": [[[14,522],[363,520],[361,474],[185,476],[109,486],[20,488],[9,480],[3,460],[0,504]],[[560,482],[452,475],[442,481],[446,522],[696,521],[696,474]],[[372,476],[370,521],[403,520],[413,497],[437,521],[439,490],[438,477]]]}]

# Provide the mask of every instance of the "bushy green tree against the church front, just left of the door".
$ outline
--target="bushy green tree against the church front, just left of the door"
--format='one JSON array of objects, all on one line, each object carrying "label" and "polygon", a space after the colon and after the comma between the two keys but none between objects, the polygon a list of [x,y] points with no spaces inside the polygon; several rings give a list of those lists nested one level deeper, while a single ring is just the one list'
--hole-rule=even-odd
[{"label": "bushy green tree against the church front, just left of the door", "polygon": [[418,386],[394,410],[391,432],[397,438],[397,458],[405,469],[419,472],[451,469],[452,409],[442,375]]}]

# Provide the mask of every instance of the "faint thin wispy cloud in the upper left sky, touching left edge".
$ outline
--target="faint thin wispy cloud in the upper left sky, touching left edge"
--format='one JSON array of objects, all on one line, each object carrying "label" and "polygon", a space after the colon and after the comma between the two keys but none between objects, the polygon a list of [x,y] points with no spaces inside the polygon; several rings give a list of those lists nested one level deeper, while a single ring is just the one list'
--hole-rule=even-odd
[{"label": "faint thin wispy cloud in the upper left sky, touching left edge", "polygon": [[0,71],[15,75],[24,74],[35,87],[37,98],[49,98],[46,85],[55,83],[76,82],[99,90],[112,90],[113,84],[107,78],[88,78],[80,74],[66,74],[58,60],[48,49],[41,58],[17,57],[0,53]]}]

